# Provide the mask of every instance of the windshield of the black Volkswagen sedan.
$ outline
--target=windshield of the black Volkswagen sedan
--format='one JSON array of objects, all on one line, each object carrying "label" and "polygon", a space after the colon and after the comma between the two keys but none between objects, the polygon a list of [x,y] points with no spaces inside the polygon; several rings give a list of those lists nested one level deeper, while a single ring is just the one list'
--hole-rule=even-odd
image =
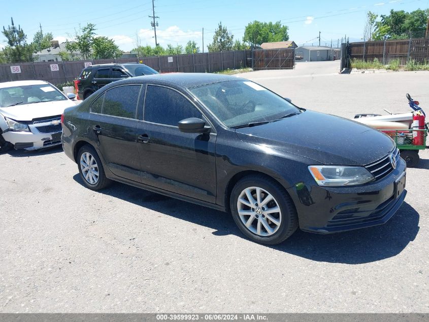
[{"label": "windshield of the black Volkswagen sedan", "polygon": [[230,128],[300,112],[284,98],[249,80],[201,85],[189,91]]}]

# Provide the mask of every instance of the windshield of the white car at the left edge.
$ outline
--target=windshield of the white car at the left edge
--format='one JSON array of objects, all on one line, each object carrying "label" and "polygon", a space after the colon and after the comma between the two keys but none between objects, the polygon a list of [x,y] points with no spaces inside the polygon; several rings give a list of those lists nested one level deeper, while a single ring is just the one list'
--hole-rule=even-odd
[{"label": "windshield of the white car at the left edge", "polygon": [[64,100],[67,98],[50,84],[13,86],[0,89],[0,107]]}]

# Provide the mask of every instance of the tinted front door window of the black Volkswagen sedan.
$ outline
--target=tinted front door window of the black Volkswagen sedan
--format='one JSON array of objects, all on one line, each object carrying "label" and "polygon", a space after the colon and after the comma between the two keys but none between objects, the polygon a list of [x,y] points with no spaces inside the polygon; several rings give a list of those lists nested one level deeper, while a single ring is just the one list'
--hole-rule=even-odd
[{"label": "tinted front door window of the black Volkswagen sedan", "polygon": [[161,86],[147,87],[145,121],[177,126],[187,118],[202,119],[203,115],[178,92]]}]

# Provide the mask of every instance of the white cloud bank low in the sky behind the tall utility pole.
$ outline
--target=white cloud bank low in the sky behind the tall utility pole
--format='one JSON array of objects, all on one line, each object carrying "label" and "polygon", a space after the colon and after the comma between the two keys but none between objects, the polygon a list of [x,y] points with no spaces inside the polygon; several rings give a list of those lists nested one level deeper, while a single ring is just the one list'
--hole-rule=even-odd
[{"label": "white cloud bank low in the sky behind the tall utility pole", "polygon": [[[141,29],[138,31],[138,36],[140,37],[140,42],[142,46],[151,45],[155,46],[155,36],[152,29]],[[122,50],[131,50],[136,47],[136,35],[134,36],[125,36],[125,35],[115,35],[108,36],[112,38],[115,43]],[[166,47],[168,44],[176,46],[182,45],[183,47],[189,40],[194,40],[201,48],[202,41],[202,32],[201,31],[192,31],[192,30],[181,30],[178,26],[170,26],[166,30],[156,30],[156,37],[158,44],[162,47]],[[209,39],[209,38],[208,38]]]}]

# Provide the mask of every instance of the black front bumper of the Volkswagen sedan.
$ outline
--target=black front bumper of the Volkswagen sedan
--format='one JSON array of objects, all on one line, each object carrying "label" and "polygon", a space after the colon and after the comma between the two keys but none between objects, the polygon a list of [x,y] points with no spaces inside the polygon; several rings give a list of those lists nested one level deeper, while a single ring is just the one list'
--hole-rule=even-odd
[{"label": "black front bumper of the Volkswagen sedan", "polygon": [[333,233],[386,223],[401,207],[407,194],[406,164],[374,183],[355,187],[295,185],[288,189],[299,217],[300,228]]}]

